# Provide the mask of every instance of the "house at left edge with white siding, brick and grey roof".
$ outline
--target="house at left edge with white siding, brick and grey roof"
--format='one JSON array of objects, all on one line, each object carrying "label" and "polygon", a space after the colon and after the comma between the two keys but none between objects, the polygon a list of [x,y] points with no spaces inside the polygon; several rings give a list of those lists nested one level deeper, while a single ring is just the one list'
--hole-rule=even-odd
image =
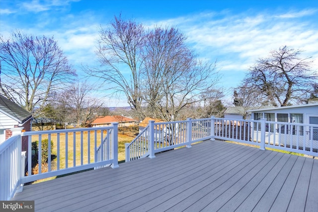
[{"label": "house at left edge with white siding, brick and grey roof", "polygon": [[[31,131],[32,114],[0,94],[0,143],[12,136],[10,129],[23,127]],[[22,151],[27,150],[28,137],[22,137]]]}]

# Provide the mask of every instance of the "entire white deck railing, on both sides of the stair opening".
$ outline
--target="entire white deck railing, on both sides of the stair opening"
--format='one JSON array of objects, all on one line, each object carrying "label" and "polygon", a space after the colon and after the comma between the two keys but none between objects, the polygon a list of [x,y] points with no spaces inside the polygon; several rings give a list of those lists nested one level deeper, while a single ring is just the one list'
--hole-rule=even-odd
[{"label": "entire white deck railing, on both sides of the stair opening", "polygon": [[[24,132],[0,144],[0,200],[9,200],[20,184],[111,164],[118,167],[118,123],[111,127]],[[16,129],[19,130],[19,129]],[[20,129],[21,131],[21,129]],[[21,136],[28,136],[27,172],[21,162]],[[48,142],[48,169],[32,174],[32,160],[42,160],[42,142]],[[318,156],[318,125],[269,122],[265,119],[187,119],[149,125],[126,143],[126,161],[155,157],[155,153],[205,140],[238,141]],[[32,141],[38,141],[38,156],[32,157]],[[54,154],[51,154],[51,150]],[[52,160],[56,156],[56,160]],[[52,162],[54,161],[54,162]]]}]

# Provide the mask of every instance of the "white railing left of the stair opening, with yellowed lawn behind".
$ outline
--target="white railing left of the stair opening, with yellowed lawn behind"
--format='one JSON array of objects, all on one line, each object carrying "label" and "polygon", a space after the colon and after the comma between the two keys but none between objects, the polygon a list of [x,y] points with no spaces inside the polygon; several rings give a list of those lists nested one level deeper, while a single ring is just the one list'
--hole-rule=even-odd
[{"label": "white railing left of the stair opening, with yellowed lawn behind", "polygon": [[[18,186],[27,182],[106,165],[117,168],[117,127],[118,123],[113,123],[110,127],[71,130],[21,133],[20,129],[20,134],[0,144],[0,200],[9,200]],[[24,176],[21,162],[23,136],[28,137],[27,176]],[[47,168],[42,171],[42,142],[45,140],[49,141],[45,163]],[[38,141],[37,158],[32,156],[32,141]],[[54,146],[51,146],[50,141],[53,141]],[[32,173],[32,164],[34,166],[36,163],[38,173]]]}]

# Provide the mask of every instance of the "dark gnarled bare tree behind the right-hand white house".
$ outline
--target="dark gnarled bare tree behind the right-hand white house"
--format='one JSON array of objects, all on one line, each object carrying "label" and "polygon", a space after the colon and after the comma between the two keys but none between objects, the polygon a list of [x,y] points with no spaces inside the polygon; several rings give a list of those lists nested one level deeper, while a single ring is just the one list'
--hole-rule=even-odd
[{"label": "dark gnarled bare tree behind the right-hand white house", "polygon": [[245,83],[273,106],[306,102],[318,74],[311,70],[311,58],[299,57],[301,52],[287,46],[271,51],[269,57],[259,59],[250,67]]}]

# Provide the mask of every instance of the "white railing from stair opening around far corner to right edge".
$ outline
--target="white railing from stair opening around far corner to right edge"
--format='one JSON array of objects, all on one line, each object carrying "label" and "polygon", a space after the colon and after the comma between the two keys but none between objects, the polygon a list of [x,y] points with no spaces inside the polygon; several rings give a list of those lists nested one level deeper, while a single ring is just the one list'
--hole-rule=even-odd
[{"label": "white railing from stair opening around far corner to right edge", "polygon": [[[211,128],[211,126],[214,126]],[[126,143],[126,161],[204,140],[227,140],[318,156],[318,126],[243,119],[187,119],[149,125]]]}]

